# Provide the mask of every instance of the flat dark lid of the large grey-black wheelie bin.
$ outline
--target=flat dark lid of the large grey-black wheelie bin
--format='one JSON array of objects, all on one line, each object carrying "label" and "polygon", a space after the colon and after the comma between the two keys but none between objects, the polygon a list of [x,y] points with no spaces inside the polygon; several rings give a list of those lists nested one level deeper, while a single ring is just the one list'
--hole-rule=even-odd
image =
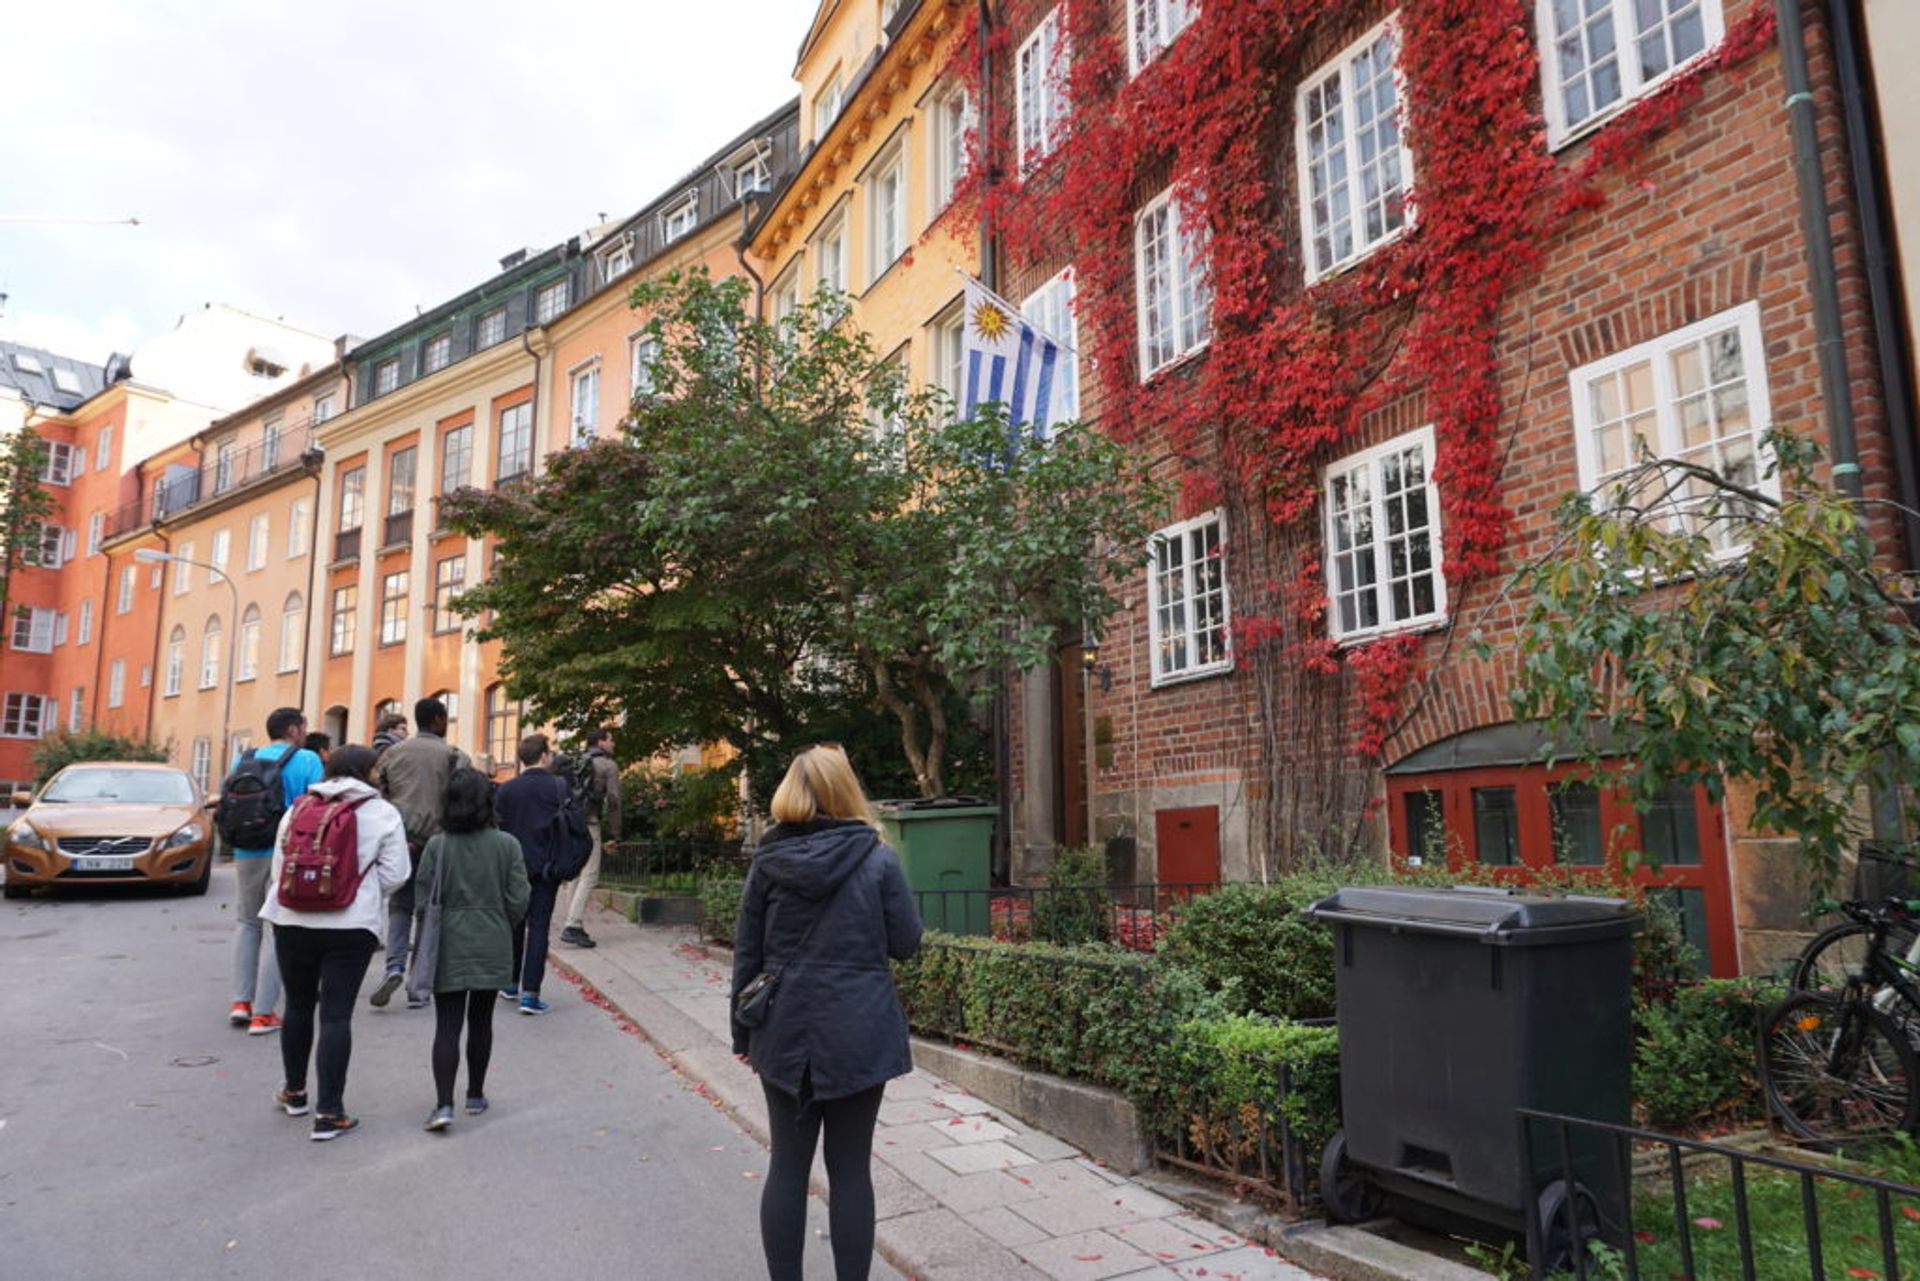
[{"label": "flat dark lid of the large grey-black wheelie bin", "polygon": [[1626,899],[1530,895],[1501,885],[1348,885],[1306,912],[1313,920],[1505,947],[1613,939],[1638,933],[1642,924]]}]

